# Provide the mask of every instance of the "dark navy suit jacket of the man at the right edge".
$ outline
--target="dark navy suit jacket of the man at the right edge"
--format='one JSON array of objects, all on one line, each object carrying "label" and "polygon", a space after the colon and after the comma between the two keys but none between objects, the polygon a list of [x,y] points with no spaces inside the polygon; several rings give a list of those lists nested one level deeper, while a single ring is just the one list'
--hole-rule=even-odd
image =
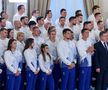
[{"label": "dark navy suit jacket of the man at the right edge", "polygon": [[97,42],[94,48],[96,49],[94,53],[95,68],[101,68],[101,70],[108,68],[108,51],[101,41]]}]

